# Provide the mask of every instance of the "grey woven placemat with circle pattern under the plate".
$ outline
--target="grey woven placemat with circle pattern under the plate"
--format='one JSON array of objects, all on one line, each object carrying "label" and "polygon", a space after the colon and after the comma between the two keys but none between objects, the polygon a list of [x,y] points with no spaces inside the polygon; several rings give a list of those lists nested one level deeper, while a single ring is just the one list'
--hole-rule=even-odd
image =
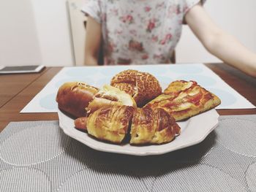
[{"label": "grey woven placemat with circle pattern under the plate", "polygon": [[221,116],[198,145],[165,155],[102,153],[58,121],[0,134],[0,191],[256,191],[256,115]]}]

